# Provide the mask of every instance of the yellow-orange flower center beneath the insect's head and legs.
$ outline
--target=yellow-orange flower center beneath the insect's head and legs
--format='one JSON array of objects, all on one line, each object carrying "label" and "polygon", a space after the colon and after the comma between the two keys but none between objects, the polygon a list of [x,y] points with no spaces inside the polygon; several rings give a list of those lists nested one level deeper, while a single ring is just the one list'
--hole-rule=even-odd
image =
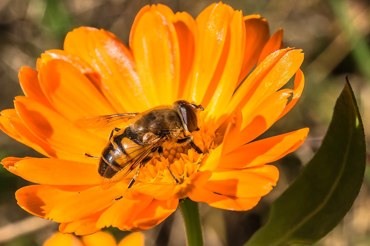
[{"label": "yellow-orange flower center beneath the insect's head and legs", "polygon": [[[194,143],[203,151],[197,153],[189,144],[164,150],[161,157],[152,158],[141,168],[137,182],[184,183],[202,165],[202,158],[211,153],[219,143],[212,124],[204,122],[204,115],[198,115],[199,131],[192,134]],[[175,179],[176,178],[176,179]],[[177,180],[177,181],[176,181]],[[177,183],[178,182],[178,183]]]}]

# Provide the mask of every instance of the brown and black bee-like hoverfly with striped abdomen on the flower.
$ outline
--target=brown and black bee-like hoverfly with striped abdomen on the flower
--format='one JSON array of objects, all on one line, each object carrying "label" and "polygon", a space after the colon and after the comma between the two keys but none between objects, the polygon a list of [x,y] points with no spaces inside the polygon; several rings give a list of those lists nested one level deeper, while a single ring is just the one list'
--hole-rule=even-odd
[{"label": "brown and black bee-like hoverfly with striped abdomen on the flower", "polygon": [[[97,157],[98,172],[104,177],[103,188],[107,188],[137,168],[128,184],[127,188],[130,188],[137,180],[140,168],[154,156],[160,158],[163,150],[190,144],[196,152],[203,153],[191,136],[191,133],[199,131],[198,109],[204,110],[201,105],[179,100],[172,105],[157,106],[142,113],[93,116],[77,120],[75,124],[92,129],[113,128],[125,123],[122,129],[115,127],[112,130],[108,144],[101,156]],[[169,167],[168,170],[178,182]]]}]

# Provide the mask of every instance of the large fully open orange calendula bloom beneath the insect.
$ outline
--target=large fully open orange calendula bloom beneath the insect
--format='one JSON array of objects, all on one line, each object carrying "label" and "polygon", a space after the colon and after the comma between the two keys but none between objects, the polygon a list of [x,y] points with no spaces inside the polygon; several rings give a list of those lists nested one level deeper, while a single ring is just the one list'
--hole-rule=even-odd
[{"label": "large fully open orange calendula bloom beneath the insect", "polygon": [[[19,189],[18,204],[77,235],[111,225],[149,229],[187,197],[216,208],[252,208],[278,180],[277,168],[267,163],[296,150],[308,133],[253,141],[303,90],[302,50],[283,48],[282,33],[269,38],[264,18],[243,17],[222,3],[195,20],[163,5],[146,6],[135,18],[129,48],[104,30],[68,33],[64,49],[42,54],[37,71],[20,70],[26,96],[1,112],[5,133],[48,157],[1,162],[38,184]],[[294,89],[281,89],[294,75]],[[100,156],[111,129],[87,130],[75,120],[144,112],[179,99],[205,108],[193,134],[204,154],[189,145],[165,150],[141,168],[131,188],[135,171],[104,189],[98,160],[85,153]]]}]

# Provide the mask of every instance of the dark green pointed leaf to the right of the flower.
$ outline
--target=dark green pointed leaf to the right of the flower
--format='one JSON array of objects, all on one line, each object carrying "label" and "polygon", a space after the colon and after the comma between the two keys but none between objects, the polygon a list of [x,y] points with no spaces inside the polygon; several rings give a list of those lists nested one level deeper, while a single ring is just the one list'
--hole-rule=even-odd
[{"label": "dark green pointed leaf to the right of the flower", "polygon": [[313,244],[323,238],[353,205],[365,165],[363,124],[347,80],[321,147],[245,246]]}]

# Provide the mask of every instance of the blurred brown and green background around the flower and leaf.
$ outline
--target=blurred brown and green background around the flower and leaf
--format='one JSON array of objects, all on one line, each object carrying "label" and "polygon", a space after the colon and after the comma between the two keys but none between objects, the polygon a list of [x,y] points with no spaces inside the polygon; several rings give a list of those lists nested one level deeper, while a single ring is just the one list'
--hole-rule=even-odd
[{"label": "blurred brown and green background around the flower and leaf", "polygon": [[[210,0],[0,0],[0,110],[14,108],[23,95],[21,66],[36,69],[36,59],[47,49],[63,49],[68,31],[80,26],[104,28],[128,43],[138,11],[147,4],[163,3],[174,12],[194,18]],[[201,205],[206,245],[242,245],[266,220],[269,206],[286,189],[313,156],[332,117],[346,75],[360,107],[365,133],[370,131],[370,2],[368,0],[225,0],[244,15],[260,14],[270,25],[270,35],[284,29],[285,47],[302,48],[301,67],[305,90],[297,105],[264,137],[309,127],[302,146],[274,163],[280,179],[270,194],[252,210],[223,211]],[[367,142],[369,146],[369,141]],[[0,132],[0,159],[7,156],[41,157],[39,153]],[[369,155],[368,155],[369,157]],[[370,164],[369,158],[367,164]],[[32,216],[17,205],[14,192],[29,185],[0,168],[0,245],[42,245],[58,224]],[[370,171],[351,211],[317,245],[370,245]],[[117,240],[126,232],[108,228]],[[144,232],[146,245],[185,245],[179,211]]]}]

